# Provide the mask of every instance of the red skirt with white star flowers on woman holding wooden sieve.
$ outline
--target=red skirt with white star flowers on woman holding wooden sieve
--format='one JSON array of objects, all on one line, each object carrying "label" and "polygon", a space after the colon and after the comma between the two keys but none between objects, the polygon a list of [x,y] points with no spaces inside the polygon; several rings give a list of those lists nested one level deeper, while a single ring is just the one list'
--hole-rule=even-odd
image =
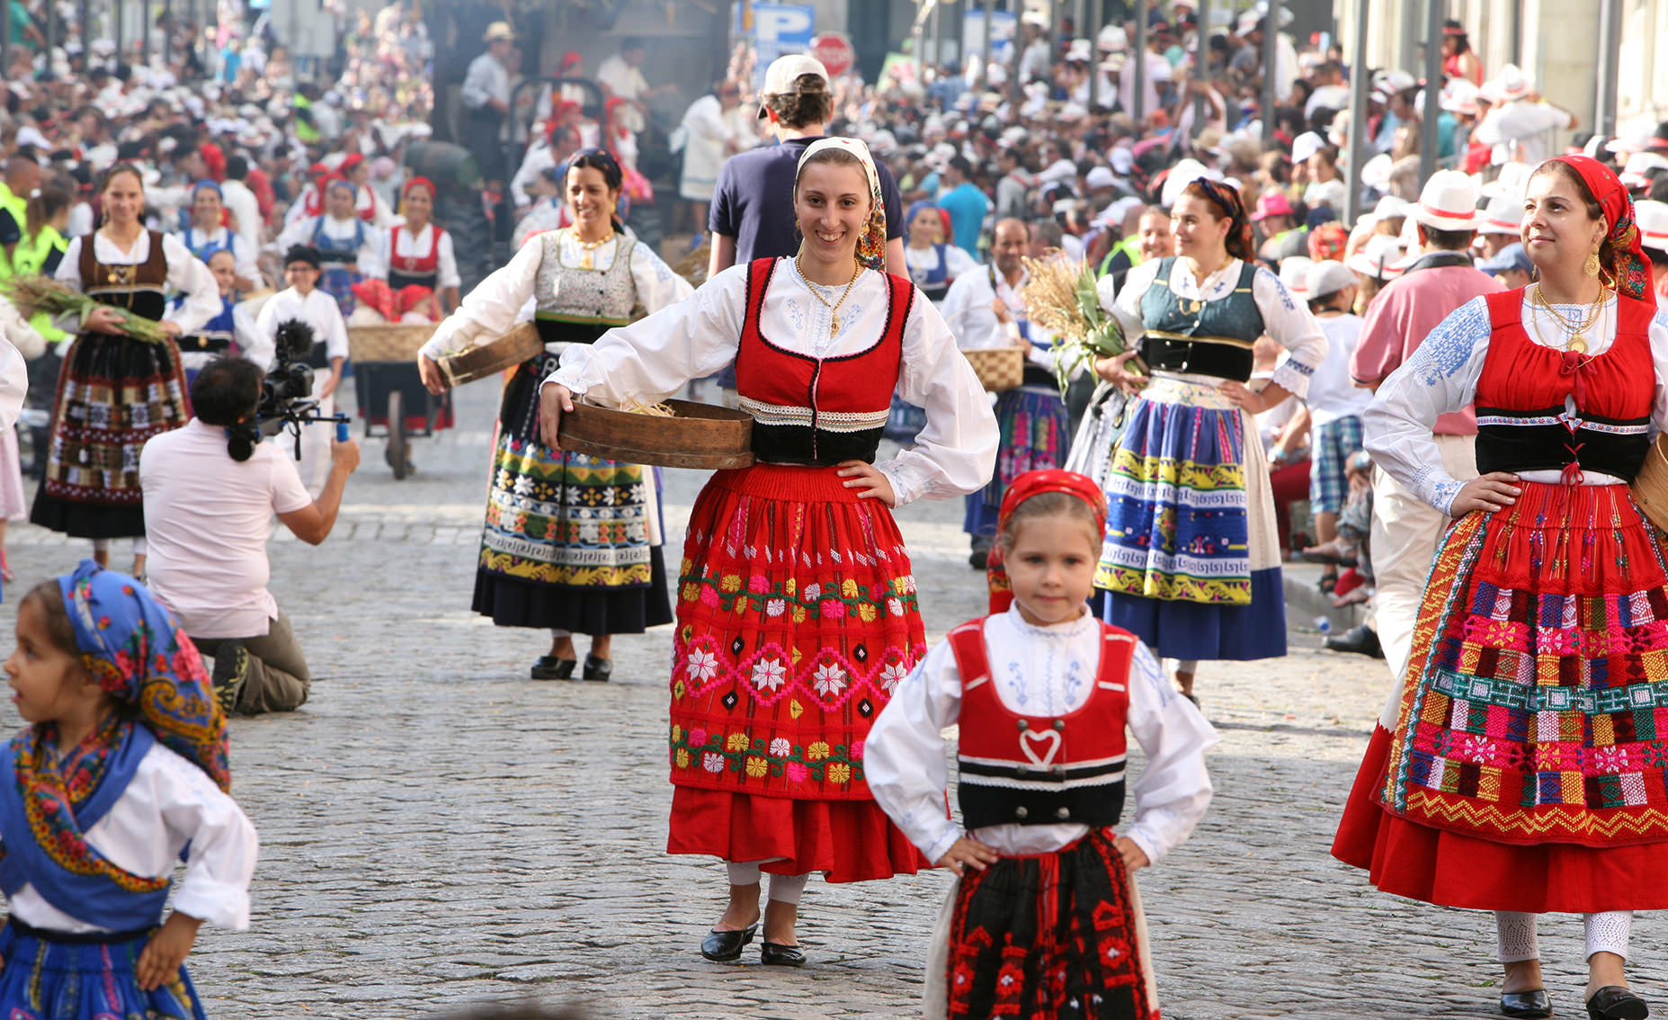
[{"label": "red skirt with white star flowers on woman holding wooden sieve", "polygon": [[824,871],[926,861],[869,796],[862,743],[926,654],[891,511],[832,467],[721,471],[689,519],[677,584],[671,853]]}]

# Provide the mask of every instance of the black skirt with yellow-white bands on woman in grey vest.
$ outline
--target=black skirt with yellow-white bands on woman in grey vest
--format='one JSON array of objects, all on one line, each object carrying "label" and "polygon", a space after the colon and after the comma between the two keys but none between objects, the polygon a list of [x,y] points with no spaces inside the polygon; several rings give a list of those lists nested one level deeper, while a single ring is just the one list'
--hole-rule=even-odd
[{"label": "black skirt with yellow-white bands on woman in grey vest", "polygon": [[544,354],[504,387],[474,609],[499,626],[639,634],[671,623],[656,477],[539,441]]}]

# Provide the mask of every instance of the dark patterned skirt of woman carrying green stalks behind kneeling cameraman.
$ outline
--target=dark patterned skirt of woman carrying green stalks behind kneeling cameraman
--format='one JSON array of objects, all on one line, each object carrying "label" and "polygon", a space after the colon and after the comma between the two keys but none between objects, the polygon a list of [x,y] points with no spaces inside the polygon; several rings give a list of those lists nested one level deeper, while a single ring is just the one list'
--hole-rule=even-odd
[{"label": "dark patterned skirt of woman carrying green stalks behind kneeling cameraman", "polygon": [[30,521],[73,538],[145,534],[138,451],[190,419],[173,341],[82,334],[58,372],[47,477]]}]

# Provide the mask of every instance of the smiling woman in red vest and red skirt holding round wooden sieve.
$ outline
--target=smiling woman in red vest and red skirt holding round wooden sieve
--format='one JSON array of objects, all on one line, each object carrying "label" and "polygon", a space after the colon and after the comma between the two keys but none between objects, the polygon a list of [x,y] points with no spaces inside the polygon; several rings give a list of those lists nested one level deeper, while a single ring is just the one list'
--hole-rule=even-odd
[{"label": "smiling woman in red vest and red skirt holding round wooden sieve", "polygon": [[[829,881],[926,865],[864,781],[862,741],[926,653],[891,507],[982,486],[996,421],[944,319],[881,272],[886,214],[867,147],[824,139],[794,185],[797,257],[759,259],[694,297],[569,347],[545,381],[545,442],[572,397],[659,401],[736,362],[759,462],[712,476],[689,518],[674,638],[667,850],[729,865],[702,943],[736,960],[759,922],[766,963],[799,967],[811,871]],[[892,392],[927,411],[917,444],[874,464]]]}]

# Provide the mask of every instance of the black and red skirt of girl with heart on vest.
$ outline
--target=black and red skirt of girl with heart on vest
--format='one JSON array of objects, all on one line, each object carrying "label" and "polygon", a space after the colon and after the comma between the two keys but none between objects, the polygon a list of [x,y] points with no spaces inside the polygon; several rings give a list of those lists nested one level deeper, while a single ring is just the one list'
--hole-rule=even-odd
[{"label": "black and red skirt of girl with heart on vest", "polygon": [[949,925],[947,1013],[1159,1020],[1143,937],[1108,830],[969,868]]}]

